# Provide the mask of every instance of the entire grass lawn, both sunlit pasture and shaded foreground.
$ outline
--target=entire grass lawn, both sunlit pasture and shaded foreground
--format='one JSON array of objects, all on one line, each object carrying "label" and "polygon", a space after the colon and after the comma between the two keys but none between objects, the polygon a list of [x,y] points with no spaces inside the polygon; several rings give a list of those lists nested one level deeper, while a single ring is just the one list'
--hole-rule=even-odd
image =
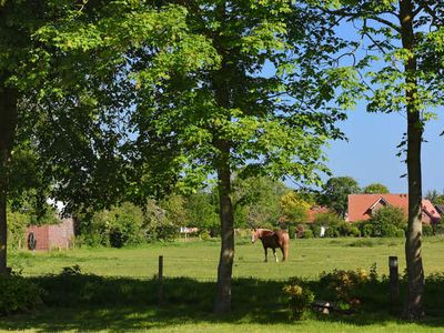
[{"label": "entire grass lawn, both sunlit pasture and shaded foreground", "polygon": [[[10,251],[10,265],[36,280],[49,294],[46,306],[29,314],[0,320],[0,330],[48,331],[145,331],[150,332],[443,332],[444,285],[428,289],[428,316],[407,324],[387,314],[387,285],[375,290],[375,302],[363,304],[353,315],[313,315],[302,322],[287,320],[282,286],[291,276],[315,280],[322,271],[369,270],[376,263],[380,275],[387,274],[389,255],[400,258],[404,270],[402,239],[313,239],[295,240],[290,260],[275,263],[272,253],[263,262],[260,243],[238,240],[233,268],[233,313],[211,314],[220,243],[180,241],[133,249],[78,249],[36,253]],[[444,272],[444,239],[427,238],[423,256],[426,274]],[[167,304],[159,307],[152,279],[158,256],[164,256]],[[280,254],[281,258],[281,254]],[[78,264],[80,275],[58,274]],[[107,278],[108,276],[108,278]],[[182,276],[182,278],[179,278]],[[442,286],[441,286],[442,285]],[[317,286],[322,287],[322,286]],[[370,292],[371,294],[372,292]],[[376,295],[379,297],[376,297]],[[377,300],[380,303],[377,303]],[[371,303],[371,302],[369,302]],[[369,305],[366,307],[366,305]]]}]

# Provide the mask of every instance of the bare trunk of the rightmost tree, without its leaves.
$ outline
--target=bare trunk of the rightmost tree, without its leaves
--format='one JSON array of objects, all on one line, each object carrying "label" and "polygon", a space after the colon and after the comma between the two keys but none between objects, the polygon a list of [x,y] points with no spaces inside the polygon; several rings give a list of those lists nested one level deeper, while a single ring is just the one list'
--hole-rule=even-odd
[{"label": "bare trunk of the rightmost tree, without its leaves", "polygon": [[412,51],[412,57],[405,62],[405,82],[407,99],[407,173],[408,173],[408,229],[405,241],[405,258],[407,264],[407,299],[403,316],[417,320],[424,315],[424,270],[422,261],[422,175],[421,143],[423,123],[416,100],[416,57],[414,56],[413,3],[411,0],[400,0],[401,37],[403,48]]}]

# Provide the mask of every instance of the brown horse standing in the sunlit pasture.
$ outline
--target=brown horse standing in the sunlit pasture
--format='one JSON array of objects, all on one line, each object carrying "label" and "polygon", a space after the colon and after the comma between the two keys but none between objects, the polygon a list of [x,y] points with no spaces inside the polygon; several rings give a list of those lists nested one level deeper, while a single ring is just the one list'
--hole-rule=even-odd
[{"label": "brown horse standing in the sunlit pasture", "polygon": [[269,229],[254,229],[251,232],[251,242],[254,243],[258,239],[262,241],[262,245],[265,251],[265,262],[266,259],[266,250],[271,248],[273,250],[274,258],[276,262],[276,248],[281,249],[283,259],[282,261],[287,260],[289,258],[289,233],[283,230],[271,231]]}]

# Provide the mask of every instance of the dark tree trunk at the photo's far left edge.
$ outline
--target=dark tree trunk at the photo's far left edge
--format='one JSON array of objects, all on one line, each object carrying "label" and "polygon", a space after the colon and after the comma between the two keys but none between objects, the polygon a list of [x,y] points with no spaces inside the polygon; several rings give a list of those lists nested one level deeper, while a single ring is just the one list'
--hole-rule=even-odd
[{"label": "dark tree trunk at the photo's far left edge", "polygon": [[17,91],[0,79],[0,274],[7,270],[8,224],[8,164],[17,125]]}]

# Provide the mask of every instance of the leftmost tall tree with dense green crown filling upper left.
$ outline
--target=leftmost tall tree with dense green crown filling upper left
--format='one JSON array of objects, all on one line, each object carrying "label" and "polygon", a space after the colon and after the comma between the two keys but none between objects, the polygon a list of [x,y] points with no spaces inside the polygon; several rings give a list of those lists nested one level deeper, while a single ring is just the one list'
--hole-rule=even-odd
[{"label": "leftmost tall tree with dense green crown filling upper left", "polygon": [[184,19],[183,9],[144,2],[0,2],[0,272],[11,152],[29,142],[41,183],[67,209],[124,196],[133,174],[123,151],[134,53],[155,50],[147,75],[200,67],[203,38],[190,36]]}]

